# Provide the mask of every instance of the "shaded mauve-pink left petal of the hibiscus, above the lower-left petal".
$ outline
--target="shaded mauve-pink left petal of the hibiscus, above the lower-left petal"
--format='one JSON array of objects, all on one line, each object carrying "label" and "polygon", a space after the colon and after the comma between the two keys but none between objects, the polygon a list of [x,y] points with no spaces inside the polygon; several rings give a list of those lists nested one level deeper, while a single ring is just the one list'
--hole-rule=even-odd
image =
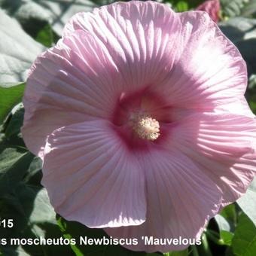
[{"label": "shaded mauve-pink left petal of the hibiscus, above the lower-left petal", "polygon": [[[93,50],[92,50],[93,49]],[[92,36],[75,32],[38,56],[23,98],[23,138],[43,157],[47,136],[59,127],[108,118],[114,108],[114,66]]]}]

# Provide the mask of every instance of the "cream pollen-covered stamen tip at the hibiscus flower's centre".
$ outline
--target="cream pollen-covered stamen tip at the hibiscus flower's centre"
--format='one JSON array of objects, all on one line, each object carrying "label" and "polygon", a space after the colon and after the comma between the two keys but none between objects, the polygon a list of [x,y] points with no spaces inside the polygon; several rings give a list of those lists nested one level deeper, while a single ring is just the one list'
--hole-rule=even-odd
[{"label": "cream pollen-covered stamen tip at the hibiscus flower's centre", "polygon": [[133,130],[142,139],[154,141],[160,136],[160,125],[157,120],[148,116],[133,120]]}]

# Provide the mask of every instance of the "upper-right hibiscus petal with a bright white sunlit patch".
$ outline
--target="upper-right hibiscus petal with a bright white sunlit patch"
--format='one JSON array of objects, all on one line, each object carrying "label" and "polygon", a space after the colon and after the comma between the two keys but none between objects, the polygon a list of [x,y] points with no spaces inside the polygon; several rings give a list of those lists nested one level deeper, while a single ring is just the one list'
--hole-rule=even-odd
[{"label": "upper-right hibiscus petal with a bright white sunlit patch", "polygon": [[215,108],[241,97],[247,86],[245,61],[202,11],[179,14],[181,34],[172,72],[152,90],[164,91],[173,107]]}]

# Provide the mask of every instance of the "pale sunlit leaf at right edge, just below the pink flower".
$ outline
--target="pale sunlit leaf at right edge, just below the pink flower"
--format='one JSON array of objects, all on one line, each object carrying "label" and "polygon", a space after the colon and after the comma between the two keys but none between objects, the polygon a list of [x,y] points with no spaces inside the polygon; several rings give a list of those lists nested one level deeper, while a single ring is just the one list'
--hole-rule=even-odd
[{"label": "pale sunlit leaf at right edge, just below the pink flower", "polygon": [[242,211],[251,219],[256,227],[256,178],[251,182],[245,195],[236,201]]}]

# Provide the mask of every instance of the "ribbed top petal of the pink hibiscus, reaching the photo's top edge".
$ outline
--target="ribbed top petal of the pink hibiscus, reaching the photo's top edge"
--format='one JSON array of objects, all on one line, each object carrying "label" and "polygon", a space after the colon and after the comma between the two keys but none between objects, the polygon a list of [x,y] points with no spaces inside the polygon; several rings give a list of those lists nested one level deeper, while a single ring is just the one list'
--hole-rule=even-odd
[{"label": "ribbed top petal of the pink hibiscus, reaching the photo's top edge", "polygon": [[137,90],[159,84],[172,69],[180,29],[177,15],[166,5],[134,1],[76,14],[64,36],[89,32],[117,63],[126,90]]}]

